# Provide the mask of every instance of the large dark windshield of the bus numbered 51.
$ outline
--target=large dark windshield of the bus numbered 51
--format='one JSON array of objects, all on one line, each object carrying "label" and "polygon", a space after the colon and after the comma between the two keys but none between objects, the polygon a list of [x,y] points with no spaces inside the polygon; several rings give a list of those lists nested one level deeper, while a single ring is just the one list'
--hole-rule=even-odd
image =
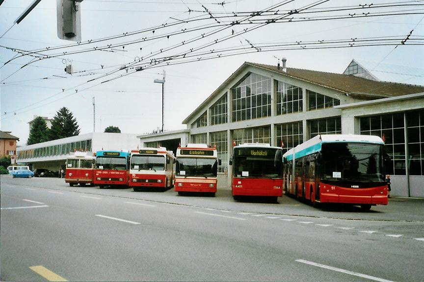
[{"label": "large dark windshield of the bus numbered 51", "polygon": [[322,178],[338,181],[384,182],[383,145],[366,143],[324,143]]}]

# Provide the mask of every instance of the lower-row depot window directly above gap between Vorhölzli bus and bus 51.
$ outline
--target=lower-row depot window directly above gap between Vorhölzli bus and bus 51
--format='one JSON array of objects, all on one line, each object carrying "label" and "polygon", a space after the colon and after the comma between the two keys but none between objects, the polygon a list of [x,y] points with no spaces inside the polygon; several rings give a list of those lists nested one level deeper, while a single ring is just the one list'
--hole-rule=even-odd
[{"label": "lower-row depot window directly above gap between Vorh\u00f6lzli bus and bus 51", "polygon": [[302,124],[302,121],[298,121],[275,125],[277,146],[281,146],[281,141],[283,141],[283,153],[286,153],[291,148],[303,143]]}]

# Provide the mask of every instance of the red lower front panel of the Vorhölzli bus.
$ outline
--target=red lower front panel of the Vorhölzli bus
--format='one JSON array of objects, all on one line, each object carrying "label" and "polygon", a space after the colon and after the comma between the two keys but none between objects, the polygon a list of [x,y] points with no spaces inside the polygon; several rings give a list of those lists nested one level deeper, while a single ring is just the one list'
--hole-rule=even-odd
[{"label": "red lower front panel of the Vorh\u00f6lzli bus", "polygon": [[[241,186],[241,187],[237,187]],[[283,179],[233,177],[233,196],[283,196]]]}]

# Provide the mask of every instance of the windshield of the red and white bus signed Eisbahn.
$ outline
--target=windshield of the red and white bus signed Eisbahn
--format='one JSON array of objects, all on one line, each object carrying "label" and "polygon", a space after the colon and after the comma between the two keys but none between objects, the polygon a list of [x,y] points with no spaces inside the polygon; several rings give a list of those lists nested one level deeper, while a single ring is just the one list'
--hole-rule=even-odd
[{"label": "windshield of the red and white bus signed Eisbahn", "polygon": [[178,176],[216,177],[218,162],[206,158],[177,158],[176,174]]}]

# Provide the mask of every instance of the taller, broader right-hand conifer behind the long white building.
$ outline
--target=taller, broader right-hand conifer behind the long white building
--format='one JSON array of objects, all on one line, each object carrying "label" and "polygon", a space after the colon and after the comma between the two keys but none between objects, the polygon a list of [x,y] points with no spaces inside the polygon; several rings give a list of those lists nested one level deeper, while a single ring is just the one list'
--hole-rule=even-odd
[{"label": "taller, broader right-hand conifer behind the long white building", "polygon": [[57,111],[49,130],[49,140],[56,140],[79,135],[77,119],[65,107]]}]

